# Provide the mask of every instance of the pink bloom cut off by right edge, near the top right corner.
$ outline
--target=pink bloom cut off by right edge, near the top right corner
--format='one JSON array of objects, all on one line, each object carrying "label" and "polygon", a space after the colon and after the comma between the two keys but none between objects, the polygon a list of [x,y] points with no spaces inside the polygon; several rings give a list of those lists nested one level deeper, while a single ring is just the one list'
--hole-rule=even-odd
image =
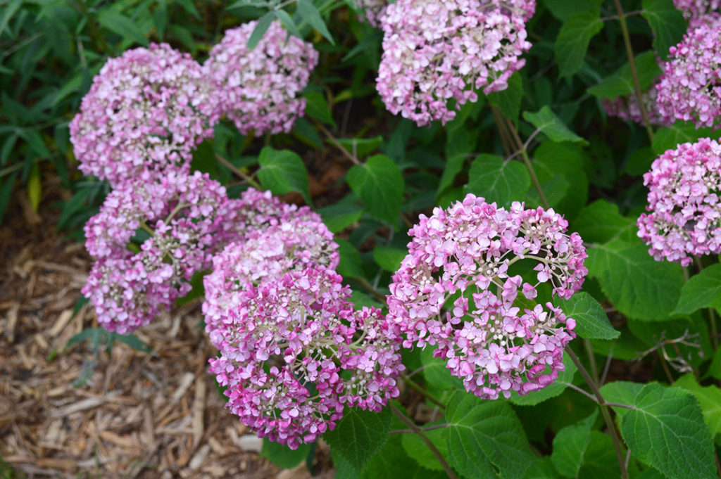
[{"label": "pink bloom cut off by right edge, near the top right corner", "polygon": [[691,21],[658,83],[658,111],[668,119],[696,127],[721,126],[721,16]]}]

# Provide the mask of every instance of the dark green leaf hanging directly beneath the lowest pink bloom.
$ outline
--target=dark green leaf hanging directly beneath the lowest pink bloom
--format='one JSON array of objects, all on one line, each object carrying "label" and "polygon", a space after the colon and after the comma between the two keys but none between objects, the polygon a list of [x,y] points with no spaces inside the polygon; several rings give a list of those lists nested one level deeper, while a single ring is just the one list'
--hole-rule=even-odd
[{"label": "dark green leaf hanging directly beneath the lowest pink bloom", "polygon": [[334,454],[340,455],[357,470],[363,470],[371,457],[383,447],[391,430],[391,411],[380,413],[346,408],[335,429],[324,434]]}]

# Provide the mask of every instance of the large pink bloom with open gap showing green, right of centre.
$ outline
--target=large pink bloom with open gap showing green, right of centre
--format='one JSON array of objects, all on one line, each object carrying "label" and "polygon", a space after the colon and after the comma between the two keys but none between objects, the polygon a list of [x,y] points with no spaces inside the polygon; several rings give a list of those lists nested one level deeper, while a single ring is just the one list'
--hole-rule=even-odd
[{"label": "large pink bloom with open gap showing green, right of centre", "polygon": [[[421,215],[388,297],[404,347],[438,345],[434,356],[480,398],[549,385],[563,370],[575,321],[552,303],[528,303],[541,283],[565,299],[583,284],[587,255],[567,225],[553,210],[519,202],[505,210],[473,194]],[[522,260],[536,263],[535,282],[510,271]]]}]

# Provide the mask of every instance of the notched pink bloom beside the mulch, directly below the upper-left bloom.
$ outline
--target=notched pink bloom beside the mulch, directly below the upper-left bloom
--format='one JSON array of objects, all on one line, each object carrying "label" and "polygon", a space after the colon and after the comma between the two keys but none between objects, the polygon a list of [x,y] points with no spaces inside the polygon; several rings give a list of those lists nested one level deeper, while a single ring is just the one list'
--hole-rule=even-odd
[{"label": "notched pink bloom beside the mulch, directly below the upper-left bloom", "polygon": [[[186,295],[218,244],[239,233],[241,204],[198,171],[143,171],[110,192],[85,225],[85,246],[97,262],[82,292],[98,322],[130,333]],[[133,253],[127,245],[137,230],[151,234]]]}]

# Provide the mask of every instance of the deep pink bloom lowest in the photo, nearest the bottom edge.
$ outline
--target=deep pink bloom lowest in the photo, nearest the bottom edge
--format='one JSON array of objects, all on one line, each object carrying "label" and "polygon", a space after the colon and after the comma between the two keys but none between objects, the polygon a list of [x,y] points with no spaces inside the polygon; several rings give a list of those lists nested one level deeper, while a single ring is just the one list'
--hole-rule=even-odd
[{"label": "deep pink bloom lowest in the photo, nearest the bottom edge", "polygon": [[258,436],[296,449],[335,428],[344,406],[379,411],[399,395],[397,331],[379,310],[353,310],[341,281],[324,267],[291,271],[229,311],[210,370]]}]

